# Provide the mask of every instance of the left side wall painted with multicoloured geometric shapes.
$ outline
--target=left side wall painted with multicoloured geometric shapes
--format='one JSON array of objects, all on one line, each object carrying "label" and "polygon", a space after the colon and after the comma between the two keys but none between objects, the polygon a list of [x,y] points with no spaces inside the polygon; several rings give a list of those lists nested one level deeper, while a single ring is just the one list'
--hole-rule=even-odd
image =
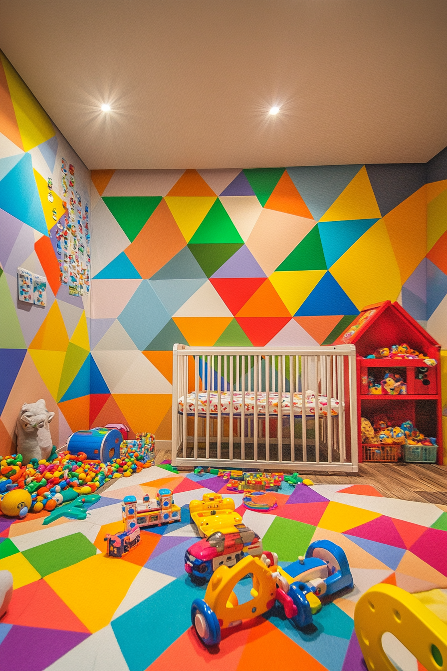
[{"label": "left side wall painted with multicoloured geometric shapes", "polygon": [[[62,95],[62,94],[61,94]],[[0,454],[11,454],[25,402],[46,400],[56,413],[53,442],[64,444],[89,422],[87,295],[61,285],[56,227],[62,205],[61,160],[74,166],[75,189],[90,202],[90,172],[0,52]],[[52,193],[48,199],[48,178]],[[47,278],[46,307],[17,301],[17,266]],[[82,371],[82,374],[80,374]],[[66,401],[74,379],[76,409]]]}]

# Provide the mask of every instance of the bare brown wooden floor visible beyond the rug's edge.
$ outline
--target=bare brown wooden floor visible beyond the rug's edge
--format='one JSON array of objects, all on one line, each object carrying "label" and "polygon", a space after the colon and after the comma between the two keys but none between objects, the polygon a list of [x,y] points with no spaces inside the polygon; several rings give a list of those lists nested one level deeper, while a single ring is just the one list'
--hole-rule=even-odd
[{"label": "bare brown wooden floor visible beyond the rug's edge", "polygon": [[[155,464],[171,458],[170,450],[159,450]],[[319,472],[306,475],[315,484],[372,484],[384,497],[436,503],[447,511],[447,466],[436,464],[359,464],[358,473]]]}]

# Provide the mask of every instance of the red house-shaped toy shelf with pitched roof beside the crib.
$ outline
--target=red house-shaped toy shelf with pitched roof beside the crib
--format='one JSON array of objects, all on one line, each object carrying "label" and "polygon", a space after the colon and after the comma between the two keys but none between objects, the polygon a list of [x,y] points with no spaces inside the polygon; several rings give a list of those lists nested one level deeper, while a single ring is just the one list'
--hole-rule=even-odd
[{"label": "red house-shaped toy shelf with pitched roof beside the crib", "polygon": [[[436,366],[426,366],[423,359],[369,359],[379,348],[407,345],[434,359]],[[361,417],[372,421],[377,415],[401,425],[409,419],[429,437],[436,437],[438,464],[442,464],[442,403],[440,344],[399,305],[384,301],[367,305],[334,342],[354,344],[357,350],[357,397],[359,427],[359,462],[363,461]],[[369,376],[378,383],[382,371],[398,368],[407,387],[406,394],[369,393]],[[424,368],[424,370],[418,370]]]}]

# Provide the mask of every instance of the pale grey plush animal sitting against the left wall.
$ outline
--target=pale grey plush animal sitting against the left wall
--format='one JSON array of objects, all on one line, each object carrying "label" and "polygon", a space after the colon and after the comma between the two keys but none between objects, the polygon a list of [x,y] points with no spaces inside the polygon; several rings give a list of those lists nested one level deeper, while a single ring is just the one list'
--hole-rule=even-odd
[{"label": "pale grey plush animal sitting against the left wall", "polygon": [[44,399],[36,403],[23,403],[15,433],[17,433],[17,453],[23,457],[23,464],[31,459],[48,459],[53,450],[50,421],[54,413],[48,412]]}]

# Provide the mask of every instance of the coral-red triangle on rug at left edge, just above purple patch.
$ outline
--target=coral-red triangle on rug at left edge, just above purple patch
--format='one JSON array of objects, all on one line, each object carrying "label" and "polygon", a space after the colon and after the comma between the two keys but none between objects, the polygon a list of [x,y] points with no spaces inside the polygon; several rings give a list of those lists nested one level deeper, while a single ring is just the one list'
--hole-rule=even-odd
[{"label": "coral-red triangle on rug at left edge, just above purple patch", "polygon": [[15,589],[1,621],[24,627],[90,633],[45,580],[36,580]]}]

